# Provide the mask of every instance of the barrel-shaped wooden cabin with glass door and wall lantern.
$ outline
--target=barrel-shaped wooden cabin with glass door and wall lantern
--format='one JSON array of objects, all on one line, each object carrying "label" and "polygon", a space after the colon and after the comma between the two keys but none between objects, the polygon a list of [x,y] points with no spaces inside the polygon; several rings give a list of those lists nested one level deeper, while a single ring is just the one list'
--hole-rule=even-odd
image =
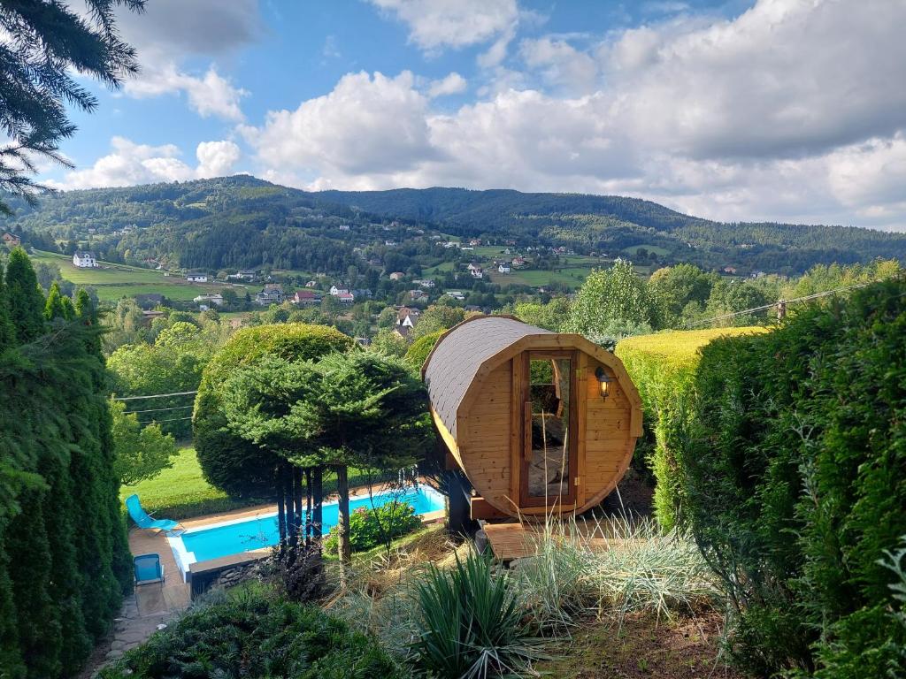
[{"label": "barrel-shaped wooden cabin with glass door and wall lantern", "polygon": [[421,375],[476,519],[592,508],[641,435],[622,362],[581,335],[476,316],[440,337]]}]

